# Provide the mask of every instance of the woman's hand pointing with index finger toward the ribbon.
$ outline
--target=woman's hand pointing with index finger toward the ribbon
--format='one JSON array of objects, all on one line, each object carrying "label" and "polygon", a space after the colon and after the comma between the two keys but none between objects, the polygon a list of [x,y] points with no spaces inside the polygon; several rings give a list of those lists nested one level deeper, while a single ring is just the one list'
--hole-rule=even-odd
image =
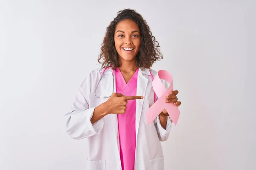
[{"label": "woman's hand pointing with index finger toward the ribbon", "polygon": [[113,114],[124,114],[128,100],[143,99],[143,96],[125,96],[119,93],[113,93],[105,102],[107,112]]}]

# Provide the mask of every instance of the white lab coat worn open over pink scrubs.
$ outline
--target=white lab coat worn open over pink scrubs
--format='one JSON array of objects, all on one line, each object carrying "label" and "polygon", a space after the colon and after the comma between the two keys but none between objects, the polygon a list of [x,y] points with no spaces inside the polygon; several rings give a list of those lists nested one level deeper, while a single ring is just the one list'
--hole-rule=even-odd
[{"label": "white lab coat worn open over pink scrubs", "polygon": [[[103,69],[93,70],[83,81],[71,111],[65,115],[67,133],[75,140],[88,139],[86,170],[121,170],[119,133],[116,114],[109,114],[93,125],[90,122],[94,108],[108,98],[96,98],[95,88]],[[150,70],[153,77],[156,71]],[[147,125],[145,113],[154,104],[154,91],[149,69],[139,69],[137,95],[144,96],[136,105],[135,170],[164,170],[163,150],[160,141],[168,139],[172,124],[168,118],[166,130],[157,117]],[[166,88],[167,83],[163,82]],[[114,81],[114,92],[116,92]],[[110,96],[113,89],[112,71],[108,68],[96,91],[96,96]]]}]

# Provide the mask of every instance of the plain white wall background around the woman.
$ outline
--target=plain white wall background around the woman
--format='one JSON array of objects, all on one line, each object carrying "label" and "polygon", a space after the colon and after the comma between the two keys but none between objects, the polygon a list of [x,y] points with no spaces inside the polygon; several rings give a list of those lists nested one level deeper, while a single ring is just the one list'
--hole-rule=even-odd
[{"label": "plain white wall background around the woman", "polygon": [[63,116],[124,8],[148,22],[164,55],[153,69],[180,91],[166,170],[255,170],[254,0],[0,0],[0,170],[85,170],[87,140]]}]

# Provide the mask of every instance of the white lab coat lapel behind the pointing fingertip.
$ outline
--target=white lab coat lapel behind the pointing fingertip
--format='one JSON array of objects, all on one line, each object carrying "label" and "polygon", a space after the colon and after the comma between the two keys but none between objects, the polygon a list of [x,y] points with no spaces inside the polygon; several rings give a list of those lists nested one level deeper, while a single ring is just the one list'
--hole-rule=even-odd
[{"label": "white lab coat lapel behind the pointing fingertip", "polygon": [[140,125],[140,117],[141,117],[141,111],[143,107],[143,102],[145,99],[145,92],[148,85],[148,79],[143,75],[143,71],[139,69],[138,72],[138,80],[137,80],[137,96],[143,96],[143,99],[137,99],[137,105],[136,105],[136,139],[138,135],[139,125]]}]

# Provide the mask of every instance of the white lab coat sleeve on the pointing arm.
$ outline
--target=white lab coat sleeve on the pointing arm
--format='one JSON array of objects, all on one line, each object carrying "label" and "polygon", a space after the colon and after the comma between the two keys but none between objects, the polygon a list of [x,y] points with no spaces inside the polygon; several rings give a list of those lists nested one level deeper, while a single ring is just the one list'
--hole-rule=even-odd
[{"label": "white lab coat sleeve on the pointing arm", "polygon": [[103,128],[104,120],[100,119],[93,125],[90,119],[95,108],[89,108],[90,77],[87,77],[79,87],[79,92],[71,107],[71,111],[65,114],[67,133],[75,140],[99,134]]}]

